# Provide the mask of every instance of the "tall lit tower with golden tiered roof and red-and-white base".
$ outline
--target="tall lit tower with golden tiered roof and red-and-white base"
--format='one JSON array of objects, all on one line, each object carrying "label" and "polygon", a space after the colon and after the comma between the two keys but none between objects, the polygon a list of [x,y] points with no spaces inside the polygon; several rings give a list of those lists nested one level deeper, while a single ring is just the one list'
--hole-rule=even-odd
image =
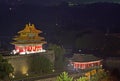
[{"label": "tall lit tower with golden tiered roof and red-and-white base", "polygon": [[39,36],[42,31],[37,30],[34,24],[26,24],[25,28],[18,32],[13,38],[12,44],[15,45],[14,54],[30,54],[44,52],[44,38]]}]

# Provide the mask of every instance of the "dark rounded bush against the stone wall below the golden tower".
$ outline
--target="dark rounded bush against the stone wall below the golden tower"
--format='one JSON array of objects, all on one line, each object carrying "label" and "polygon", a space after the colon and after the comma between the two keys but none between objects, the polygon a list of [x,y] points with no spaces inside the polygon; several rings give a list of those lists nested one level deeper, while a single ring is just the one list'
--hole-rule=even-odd
[{"label": "dark rounded bush against the stone wall below the golden tower", "polygon": [[54,69],[53,63],[45,56],[33,56],[30,59],[30,71],[35,73],[50,73]]}]

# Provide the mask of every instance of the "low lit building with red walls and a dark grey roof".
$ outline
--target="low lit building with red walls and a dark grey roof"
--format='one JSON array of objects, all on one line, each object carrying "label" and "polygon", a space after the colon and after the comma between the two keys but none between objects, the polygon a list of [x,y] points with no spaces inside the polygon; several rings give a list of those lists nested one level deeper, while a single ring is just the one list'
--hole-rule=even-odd
[{"label": "low lit building with red walls and a dark grey roof", "polygon": [[88,69],[102,66],[102,60],[93,55],[74,54],[70,61],[70,64],[75,70]]}]

